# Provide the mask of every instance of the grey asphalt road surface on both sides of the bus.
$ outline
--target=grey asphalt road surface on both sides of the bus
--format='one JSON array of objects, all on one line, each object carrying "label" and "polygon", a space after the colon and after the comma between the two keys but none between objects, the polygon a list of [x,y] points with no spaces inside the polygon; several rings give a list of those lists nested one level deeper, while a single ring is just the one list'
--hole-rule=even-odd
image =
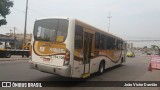
[{"label": "grey asphalt road surface on both sides of the bus", "polygon": [[[121,66],[107,69],[104,74],[93,74],[87,81],[160,81],[160,71],[148,71],[149,56],[137,54],[135,58],[127,58],[127,62]],[[53,74],[43,73],[29,68],[28,60],[0,61],[0,81],[73,81],[72,79]],[[53,87],[54,89],[65,89],[63,87]],[[109,87],[107,87],[109,88]],[[4,88],[3,88],[4,89]],[[52,89],[52,88],[46,88]],[[87,89],[85,87],[70,87],[69,89]],[[97,90],[99,88],[89,87],[88,89]],[[100,89],[106,89],[101,87]],[[115,88],[109,88],[114,90]],[[121,87],[117,89],[135,89]],[[160,88],[136,88],[147,90],[160,90]],[[6,89],[4,89],[6,90]]]}]

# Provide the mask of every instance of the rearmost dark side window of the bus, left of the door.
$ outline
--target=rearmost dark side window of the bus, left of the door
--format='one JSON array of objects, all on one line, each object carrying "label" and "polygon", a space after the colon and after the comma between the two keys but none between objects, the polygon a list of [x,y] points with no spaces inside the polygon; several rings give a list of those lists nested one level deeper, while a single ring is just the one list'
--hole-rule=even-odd
[{"label": "rearmost dark side window of the bus, left of the door", "polygon": [[75,27],[75,49],[82,49],[83,27],[76,25]]}]

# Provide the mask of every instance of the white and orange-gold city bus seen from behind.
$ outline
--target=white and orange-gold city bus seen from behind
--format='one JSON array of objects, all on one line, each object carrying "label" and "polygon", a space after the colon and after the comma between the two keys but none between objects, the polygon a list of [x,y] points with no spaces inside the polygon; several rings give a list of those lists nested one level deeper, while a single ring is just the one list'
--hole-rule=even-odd
[{"label": "white and orange-gold city bus seen from behind", "polygon": [[75,18],[43,18],[35,21],[30,66],[42,72],[72,78],[125,62],[122,38]]}]

